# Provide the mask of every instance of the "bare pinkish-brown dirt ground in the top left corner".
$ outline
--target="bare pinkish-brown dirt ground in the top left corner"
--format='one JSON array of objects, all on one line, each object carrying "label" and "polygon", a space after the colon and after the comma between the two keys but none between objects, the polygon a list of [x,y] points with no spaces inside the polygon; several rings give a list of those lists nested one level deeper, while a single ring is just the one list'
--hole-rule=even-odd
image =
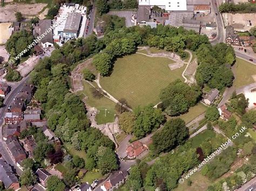
[{"label": "bare pinkish-brown dirt ground in the top left corner", "polygon": [[[24,17],[35,16],[46,6],[45,3],[37,4],[21,4],[21,3],[11,3],[4,7],[0,7],[0,22],[15,22],[15,13],[17,11],[21,12]],[[1,31],[2,32],[2,31]]]}]

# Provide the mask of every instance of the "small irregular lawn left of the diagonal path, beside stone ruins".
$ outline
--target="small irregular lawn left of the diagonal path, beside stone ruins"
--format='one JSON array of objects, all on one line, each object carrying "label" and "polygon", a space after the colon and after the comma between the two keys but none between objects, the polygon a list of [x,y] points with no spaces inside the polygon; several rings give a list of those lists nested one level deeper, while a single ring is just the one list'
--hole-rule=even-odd
[{"label": "small irregular lawn left of the diagonal path, beside stone ruins", "polygon": [[[81,98],[87,97],[87,104],[90,107],[95,107],[99,110],[99,113],[96,115],[96,121],[98,124],[110,123],[114,121],[114,115],[116,114],[114,107],[116,104],[109,100],[106,97],[102,97],[97,99],[92,96],[91,89],[89,83],[84,82],[84,90],[79,92]],[[106,109],[106,117],[105,117],[105,109]]]}]

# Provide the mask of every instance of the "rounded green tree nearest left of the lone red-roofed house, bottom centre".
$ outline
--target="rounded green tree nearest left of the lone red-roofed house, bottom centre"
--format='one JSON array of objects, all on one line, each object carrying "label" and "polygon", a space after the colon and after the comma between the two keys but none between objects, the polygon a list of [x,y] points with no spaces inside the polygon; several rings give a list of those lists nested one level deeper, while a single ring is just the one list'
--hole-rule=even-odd
[{"label": "rounded green tree nearest left of the lone red-roofed house, bottom centre", "polygon": [[109,147],[100,146],[97,152],[97,166],[102,174],[118,169],[116,154]]}]

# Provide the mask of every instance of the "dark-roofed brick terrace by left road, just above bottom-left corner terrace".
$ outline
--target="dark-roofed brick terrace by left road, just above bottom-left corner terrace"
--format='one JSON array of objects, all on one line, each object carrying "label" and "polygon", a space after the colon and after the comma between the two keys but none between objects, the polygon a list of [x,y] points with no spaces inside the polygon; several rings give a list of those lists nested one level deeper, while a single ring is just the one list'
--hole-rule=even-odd
[{"label": "dark-roofed brick terrace by left road, just above bottom-left corner terrace", "polygon": [[5,142],[6,149],[10,153],[11,159],[14,160],[16,164],[19,164],[26,158],[26,153],[21,144],[19,144],[17,137],[8,137]]}]

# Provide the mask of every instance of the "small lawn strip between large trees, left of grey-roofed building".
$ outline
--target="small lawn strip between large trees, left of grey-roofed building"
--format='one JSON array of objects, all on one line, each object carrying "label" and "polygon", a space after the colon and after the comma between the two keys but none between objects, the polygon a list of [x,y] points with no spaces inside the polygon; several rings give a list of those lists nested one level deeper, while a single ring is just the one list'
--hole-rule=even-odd
[{"label": "small lawn strip between large trees, left of grey-roofed building", "polygon": [[167,119],[171,118],[181,118],[185,121],[185,123],[191,122],[194,118],[203,114],[206,111],[207,107],[203,103],[198,103],[194,107],[190,108],[186,114],[177,116],[177,117],[167,117]]}]

